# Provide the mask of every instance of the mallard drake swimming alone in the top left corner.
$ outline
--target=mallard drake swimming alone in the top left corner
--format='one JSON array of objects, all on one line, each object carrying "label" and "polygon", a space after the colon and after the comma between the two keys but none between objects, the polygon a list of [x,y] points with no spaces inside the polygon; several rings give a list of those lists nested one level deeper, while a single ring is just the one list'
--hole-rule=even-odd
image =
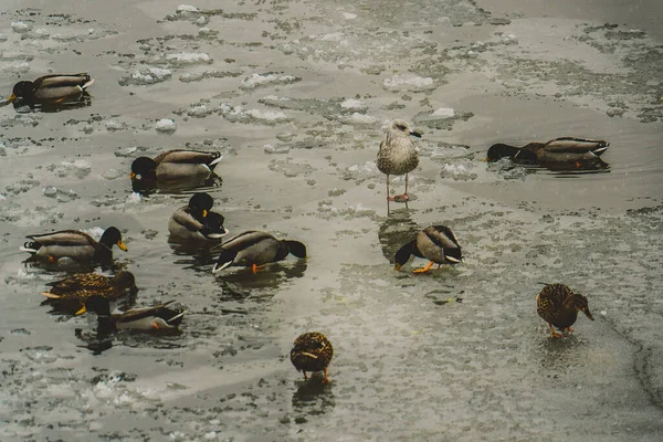
[{"label": "mallard drake swimming alone in the top left corner", "polygon": [[94,80],[86,73],[44,75],[33,82],[14,84],[12,94],[7,99],[10,102],[17,98],[27,102],[59,102],[81,95],[92,83]]}]

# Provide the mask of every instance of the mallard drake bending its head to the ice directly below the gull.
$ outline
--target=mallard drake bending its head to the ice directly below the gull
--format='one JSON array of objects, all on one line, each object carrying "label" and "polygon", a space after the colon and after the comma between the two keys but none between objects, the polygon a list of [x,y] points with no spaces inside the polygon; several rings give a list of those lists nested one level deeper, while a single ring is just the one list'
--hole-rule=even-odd
[{"label": "mallard drake bending its head to the ice directly below the gull", "polygon": [[461,245],[455,234],[446,225],[431,225],[417,233],[414,241],[410,241],[396,252],[394,270],[400,270],[411,255],[425,257],[430,262],[423,269],[417,269],[414,273],[428,272],[433,264],[457,264],[463,261]]}]

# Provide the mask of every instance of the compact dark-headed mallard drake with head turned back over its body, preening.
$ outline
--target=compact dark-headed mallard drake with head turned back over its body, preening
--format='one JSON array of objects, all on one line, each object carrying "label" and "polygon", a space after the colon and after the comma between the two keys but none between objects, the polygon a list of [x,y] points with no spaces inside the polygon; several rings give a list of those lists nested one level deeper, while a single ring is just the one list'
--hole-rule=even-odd
[{"label": "compact dark-headed mallard drake with head turned back over its body, preening", "polygon": [[206,241],[219,240],[228,234],[223,227],[224,218],[212,212],[214,200],[208,193],[193,193],[189,204],[172,213],[168,231],[176,240]]}]

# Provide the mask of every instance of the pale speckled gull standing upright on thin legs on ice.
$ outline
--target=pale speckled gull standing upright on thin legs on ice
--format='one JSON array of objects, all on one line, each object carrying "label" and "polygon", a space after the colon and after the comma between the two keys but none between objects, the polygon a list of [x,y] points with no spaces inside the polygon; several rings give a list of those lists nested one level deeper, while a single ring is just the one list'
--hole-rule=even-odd
[{"label": "pale speckled gull standing upright on thin legs on ice", "polygon": [[[408,123],[394,119],[386,130],[386,138],[378,150],[378,169],[387,175],[387,200],[408,201],[408,173],[419,166],[419,154],[410,135],[421,138],[421,134],[410,129]],[[389,196],[389,176],[406,175],[406,192],[396,197]]]}]

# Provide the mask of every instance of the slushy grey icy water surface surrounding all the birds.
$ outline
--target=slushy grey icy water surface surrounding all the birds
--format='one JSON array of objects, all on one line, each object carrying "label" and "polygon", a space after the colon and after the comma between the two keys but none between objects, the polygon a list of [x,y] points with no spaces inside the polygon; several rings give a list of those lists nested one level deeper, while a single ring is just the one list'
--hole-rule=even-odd
[{"label": "slushy grey icy water surface surrounding all the birds", "polygon": [[[0,107],[1,440],[663,436],[657,2],[6,3],[0,90],[49,71],[95,84],[86,107]],[[417,199],[388,215],[375,158],[394,117],[424,136]],[[609,168],[483,161],[560,136],[609,140]],[[185,146],[223,154],[206,189],[231,234],[308,259],[213,275],[213,252],[169,244],[191,190],[140,197],[127,175]],[[394,272],[436,223],[465,262]],[[136,305],[177,299],[181,334],[98,343],[91,315],[40,306],[64,273],[24,264],[24,235],[108,225]],[[541,282],[586,294],[596,320],[548,339]],[[288,360],[306,330],[334,344],[329,386]]]}]

